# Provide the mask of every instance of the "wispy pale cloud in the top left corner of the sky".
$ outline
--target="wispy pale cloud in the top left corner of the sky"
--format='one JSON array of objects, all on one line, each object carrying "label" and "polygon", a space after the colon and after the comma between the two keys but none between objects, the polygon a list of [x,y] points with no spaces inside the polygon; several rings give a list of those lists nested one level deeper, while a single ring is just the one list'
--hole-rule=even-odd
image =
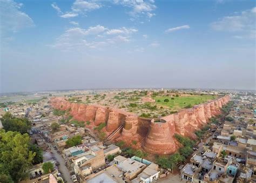
[{"label": "wispy pale cloud in the top left corner of the sky", "polygon": [[2,35],[35,25],[33,20],[21,11],[22,6],[22,3],[16,3],[12,0],[0,1],[0,30]]}]

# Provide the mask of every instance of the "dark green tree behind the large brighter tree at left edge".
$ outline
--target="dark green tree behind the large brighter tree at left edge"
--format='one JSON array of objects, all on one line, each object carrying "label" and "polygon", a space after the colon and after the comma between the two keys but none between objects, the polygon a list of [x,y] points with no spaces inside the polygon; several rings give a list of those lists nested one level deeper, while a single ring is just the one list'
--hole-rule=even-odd
[{"label": "dark green tree behind the large brighter tree at left edge", "polygon": [[6,112],[2,118],[2,124],[6,131],[16,131],[22,134],[28,133],[31,122],[26,118],[16,118],[11,113]]}]

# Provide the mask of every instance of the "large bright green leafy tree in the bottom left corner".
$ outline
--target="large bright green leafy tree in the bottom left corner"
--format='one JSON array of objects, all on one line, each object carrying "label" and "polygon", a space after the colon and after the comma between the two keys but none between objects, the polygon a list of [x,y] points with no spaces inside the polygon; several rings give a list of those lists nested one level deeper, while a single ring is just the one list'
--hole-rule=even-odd
[{"label": "large bright green leafy tree in the bottom left corner", "polygon": [[36,155],[29,151],[29,135],[0,130],[0,137],[0,180],[10,180],[11,177],[12,181],[18,182],[25,179]]}]

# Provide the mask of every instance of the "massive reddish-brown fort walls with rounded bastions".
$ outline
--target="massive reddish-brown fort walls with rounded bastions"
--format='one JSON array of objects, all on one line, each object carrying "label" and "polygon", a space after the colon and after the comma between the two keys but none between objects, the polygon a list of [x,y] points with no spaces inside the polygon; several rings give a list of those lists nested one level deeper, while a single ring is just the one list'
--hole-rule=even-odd
[{"label": "massive reddish-brown fort walls with rounded bastions", "polygon": [[221,107],[229,100],[229,96],[222,96],[159,119],[142,118],[101,105],[70,103],[63,97],[53,97],[50,102],[55,109],[69,110],[73,119],[90,121],[90,125],[86,126],[88,128],[105,123],[107,140],[123,140],[127,145],[136,140],[138,148],[151,154],[164,155],[174,153],[179,148],[173,137],[175,133],[196,138],[193,132],[205,126],[211,117],[220,114]]}]

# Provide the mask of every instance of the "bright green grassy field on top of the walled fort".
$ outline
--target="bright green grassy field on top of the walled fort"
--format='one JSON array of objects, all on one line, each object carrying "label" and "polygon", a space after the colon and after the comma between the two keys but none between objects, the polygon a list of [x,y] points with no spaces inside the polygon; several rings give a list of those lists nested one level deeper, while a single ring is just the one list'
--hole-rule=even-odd
[{"label": "bright green grassy field on top of the walled fort", "polygon": [[[174,99],[172,99],[174,98]],[[156,99],[157,105],[160,106],[167,106],[172,110],[179,110],[184,108],[190,108],[189,106],[194,106],[201,103],[206,103],[208,100],[215,99],[216,96],[211,95],[194,95],[189,97],[164,97],[164,96],[157,96]],[[169,99],[169,102],[165,102],[165,99]]]}]

